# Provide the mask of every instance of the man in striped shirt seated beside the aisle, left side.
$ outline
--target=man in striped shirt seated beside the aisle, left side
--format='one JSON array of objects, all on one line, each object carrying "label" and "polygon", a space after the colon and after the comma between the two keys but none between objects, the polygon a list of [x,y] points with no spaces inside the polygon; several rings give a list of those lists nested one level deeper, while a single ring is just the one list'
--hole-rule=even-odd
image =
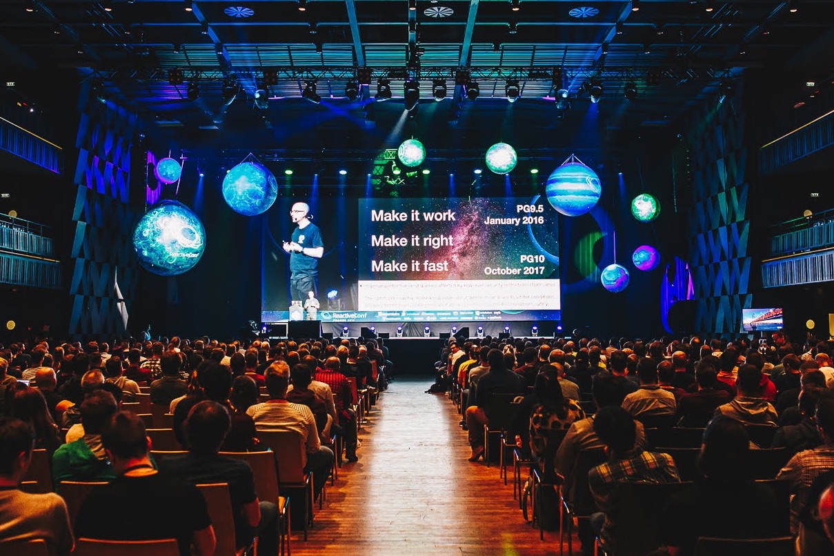
[{"label": "man in striped shirt seated beside the aisle, left side", "polygon": [[304,439],[307,461],[304,471],[313,473],[314,496],[318,497],[333,468],[334,455],[330,448],[322,446],[315,426],[313,412],[306,405],[289,403],[289,366],[284,361],[274,361],[264,372],[269,400],[246,410],[254,420],[255,428],[264,431],[292,430]]}]

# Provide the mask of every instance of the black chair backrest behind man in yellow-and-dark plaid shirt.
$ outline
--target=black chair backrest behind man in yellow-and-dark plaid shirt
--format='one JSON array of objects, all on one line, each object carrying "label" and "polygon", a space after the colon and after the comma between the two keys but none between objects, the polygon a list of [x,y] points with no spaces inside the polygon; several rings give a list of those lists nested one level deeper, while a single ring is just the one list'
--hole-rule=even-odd
[{"label": "black chair backrest behind man in yellow-and-dark plaid shirt", "polygon": [[661,517],[666,502],[693,484],[618,483],[611,493],[614,513],[610,518],[616,523],[613,552],[644,554],[660,546]]}]

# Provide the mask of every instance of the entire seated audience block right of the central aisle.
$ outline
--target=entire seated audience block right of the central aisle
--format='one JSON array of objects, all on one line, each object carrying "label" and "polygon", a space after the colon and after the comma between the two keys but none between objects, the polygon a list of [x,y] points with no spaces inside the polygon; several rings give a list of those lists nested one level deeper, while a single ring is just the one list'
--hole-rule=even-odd
[{"label": "entire seated audience block right of the central aisle", "polygon": [[[429,392],[460,403],[470,461],[484,456],[492,417],[500,451],[515,448],[530,481],[538,468],[535,480],[558,487],[538,494],[550,500],[535,516],[543,525],[559,526],[547,515],[559,513],[557,492],[566,508],[590,503],[577,514],[585,554],[595,543],[611,554],[694,554],[711,537],[781,538],[815,556],[834,553],[832,352],[834,342],[801,346],[782,333],[755,346],[450,338]],[[646,483],[671,486],[636,512],[631,484]]]}]

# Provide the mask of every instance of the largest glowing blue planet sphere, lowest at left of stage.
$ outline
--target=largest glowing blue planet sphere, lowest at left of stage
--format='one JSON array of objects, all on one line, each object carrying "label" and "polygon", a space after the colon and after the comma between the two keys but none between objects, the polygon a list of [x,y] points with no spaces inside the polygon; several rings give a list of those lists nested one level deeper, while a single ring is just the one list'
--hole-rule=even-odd
[{"label": "largest glowing blue planet sphere, lowest at left of stage", "polygon": [[160,276],[176,276],[193,268],[203,256],[206,232],[190,208],[163,201],[133,228],[133,248],[139,264]]}]

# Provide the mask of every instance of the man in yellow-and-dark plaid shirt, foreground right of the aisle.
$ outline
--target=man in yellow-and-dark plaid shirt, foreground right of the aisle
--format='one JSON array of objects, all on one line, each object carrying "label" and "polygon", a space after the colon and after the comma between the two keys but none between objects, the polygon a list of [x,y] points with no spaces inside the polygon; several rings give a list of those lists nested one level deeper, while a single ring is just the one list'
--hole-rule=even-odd
[{"label": "man in yellow-and-dark plaid shirt, foreground right of the aisle", "polygon": [[617,508],[611,495],[619,483],[678,483],[675,462],[666,453],[646,452],[636,444],[637,428],[634,418],[623,408],[600,408],[594,418],[594,432],[605,444],[609,461],[592,468],[588,485],[601,513],[590,516],[591,527],[611,548],[628,552],[628,547],[617,543],[613,516],[627,508]]}]

